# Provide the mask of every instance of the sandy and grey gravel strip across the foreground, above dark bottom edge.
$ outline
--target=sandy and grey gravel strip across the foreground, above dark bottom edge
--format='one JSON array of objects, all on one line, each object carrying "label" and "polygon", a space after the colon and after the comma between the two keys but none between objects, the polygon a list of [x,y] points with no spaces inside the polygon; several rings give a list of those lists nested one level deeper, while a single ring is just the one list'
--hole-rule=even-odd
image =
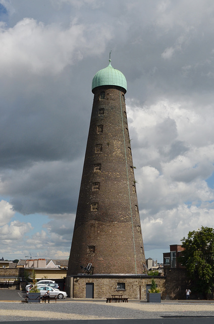
[{"label": "sandy and grey gravel strip across the foreground, above dark bottom edge", "polygon": [[0,321],[50,319],[115,319],[163,317],[214,317],[214,304],[162,302],[106,303],[69,301],[34,304],[0,302]]}]

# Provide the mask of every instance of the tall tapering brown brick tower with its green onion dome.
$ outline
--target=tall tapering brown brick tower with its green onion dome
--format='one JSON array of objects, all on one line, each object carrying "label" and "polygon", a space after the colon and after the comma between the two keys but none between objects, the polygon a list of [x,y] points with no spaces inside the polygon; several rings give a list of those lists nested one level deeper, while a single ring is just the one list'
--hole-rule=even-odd
[{"label": "tall tapering brown brick tower with its green onion dome", "polygon": [[129,138],[126,78],[111,65],[92,80],[94,94],[68,275],[143,273],[145,255]]}]

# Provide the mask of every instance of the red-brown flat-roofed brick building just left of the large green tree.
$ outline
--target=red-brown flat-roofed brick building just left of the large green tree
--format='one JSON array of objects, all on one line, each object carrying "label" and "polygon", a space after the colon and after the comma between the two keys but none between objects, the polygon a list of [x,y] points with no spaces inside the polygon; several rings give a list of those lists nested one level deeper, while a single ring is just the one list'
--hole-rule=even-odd
[{"label": "red-brown flat-roofed brick building just left of the large green tree", "polygon": [[182,251],[184,251],[184,248],[182,248],[181,245],[170,245],[170,252],[163,253],[164,270],[169,268],[185,268],[185,266],[182,266],[181,262],[179,262]]}]

